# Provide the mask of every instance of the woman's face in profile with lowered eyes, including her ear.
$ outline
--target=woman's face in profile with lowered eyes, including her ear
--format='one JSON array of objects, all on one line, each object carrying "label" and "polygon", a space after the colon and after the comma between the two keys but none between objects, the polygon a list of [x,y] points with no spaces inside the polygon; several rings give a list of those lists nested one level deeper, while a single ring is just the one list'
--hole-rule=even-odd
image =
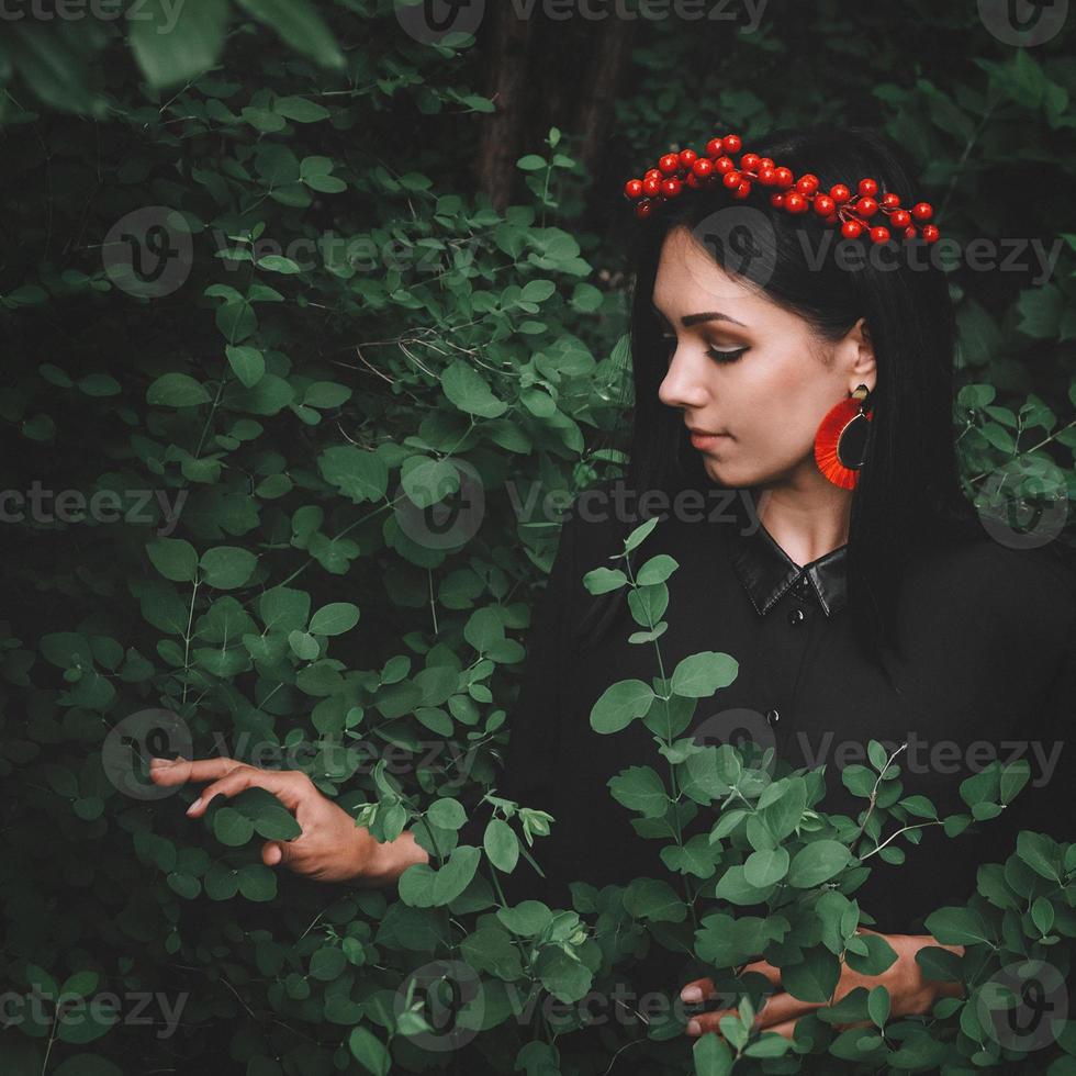
[{"label": "woman's face in profile with lowered eyes, including her ear", "polygon": [[658,399],[683,411],[686,426],[719,435],[693,439],[710,478],[825,485],[819,423],[858,384],[875,385],[863,320],[837,344],[818,340],[804,318],[725,272],[685,227],[662,246],[652,298],[669,345]]}]

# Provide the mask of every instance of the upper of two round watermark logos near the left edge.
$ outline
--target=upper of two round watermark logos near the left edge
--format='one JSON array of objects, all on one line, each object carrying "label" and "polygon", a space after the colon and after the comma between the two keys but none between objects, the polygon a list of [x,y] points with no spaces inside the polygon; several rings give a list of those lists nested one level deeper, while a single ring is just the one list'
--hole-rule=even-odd
[{"label": "upper of two round watermark logos near the left edge", "polygon": [[193,246],[181,213],[147,205],[116,221],[104,237],[101,257],[105,273],[121,291],[136,299],[160,299],[187,282]]}]

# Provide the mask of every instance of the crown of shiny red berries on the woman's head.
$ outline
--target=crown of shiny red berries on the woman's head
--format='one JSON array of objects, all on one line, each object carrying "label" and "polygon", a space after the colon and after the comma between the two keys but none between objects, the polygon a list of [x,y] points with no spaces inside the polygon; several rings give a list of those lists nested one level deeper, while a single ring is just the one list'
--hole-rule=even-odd
[{"label": "crown of shiny red berries on the woman's head", "polygon": [[894,236],[881,223],[884,220],[899,238],[922,235],[927,243],[934,243],[940,235],[937,225],[924,223],[934,212],[929,202],[916,202],[905,209],[896,194],[883,193],[879,198],[878,184],[870,178],[859,181],[854,194],[844,183],[834,183],[827,193],[820,189],[817,176],[805,172],[797,179],[792,169],[775,165],[769,157],[746,153],[737,165],[729,155],[739,154],[741,148],[739,135],[725,135],[710,138],[702,156],[694,149],[668,153],[642,179],[629,179],[624,184],[624,193],[636,203],[636,216],[645,218],[655,205],[680,198],[685,187],[698,189],[721,183],[733,198],[742,199],[756,182],[760,187],[774,188],[771,205],[797,214],[814,210],[827,224],[839,223],[841,234],[848,239],[865,231],[874,243],[885,243]]}]

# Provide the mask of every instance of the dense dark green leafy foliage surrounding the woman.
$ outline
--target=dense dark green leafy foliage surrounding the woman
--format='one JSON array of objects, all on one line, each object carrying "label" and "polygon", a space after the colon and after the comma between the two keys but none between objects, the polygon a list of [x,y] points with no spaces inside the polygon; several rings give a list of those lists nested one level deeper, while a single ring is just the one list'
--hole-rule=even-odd
[{"label": "dense dark green leafy foliage surrounding the woman", "polygon": [[[5,527],[18,556],[0,653],[4,1073],[215,1071],[223,1057],[247,1076],[425,1071],[445,1044],[430,1045],[429,983],[414,976],[441,961],[431,989],[468,974],[481,985],[483,1004],[457,1013],[464,1065],[576,1071],[582,1018],[554,1029],[535,1002],[601,991],[670,938],[738,996],[725,1041],[671,1050],[671,1071],[799,1071],[802,1043],[752,1029],[758,985],[737,969],[766,955],[819,1001],[841,961],[881,974],[892,951],[858,932],[851,896],[864,864],[903,855],[899,839],[924,826],[988,823],[1027,774],[988,771],[962,787],[967,811],[941,818],[900,798],[899,766],[873,744],[873,769],[843,774],[870,800],[864,817],[830,818],[818,775],[774,780],[771,760],[684,737],[697,702],[737,674],[735,655],[704,652],[612,685],[591,715],[603,735],[640,720],[659,744],[653,767],[609,792],[665,834],[669,877],[579,884],[573,910],[507,906],[501,876],[529,870],[557,823],[490,792],[556,533],[516,496],[574,493],[623,460],[590,447],[620,418],[626,352],[616,255],[572,215],[578,142],[552,127],[527,146],[523,199],[498,212],[472,193],[472,121],[494,104],[473,89],[470,43],[417,43],[372,0],[138,7],[143,19],[120,3],[103,8],[131,18],[11,22],[0,40],[16,192],[0,270],[4,489],[41,480],[100,498],[81,518]],[[746,131],[865,116],[922,162],[954,235],[991,234],[1013,160],[1035,162],[1022,184],[1045,173],[1025,234],[1052,234],[1068,188],[1044,165],[1072,162],[1043,161],[1041,146],[1073,126],[1071,59],[1001,47],[971,12],[914,8],[915,47],[870,10],[850,35],[848,10],[826,3],[806,23],[788,13],[737,34],[720,65],[703,35],[658,24],[635,49],[614,153],[627,165],[655,131],[687,137],[715,113]],[[954,34],[962,54],[977,34],[983,55],[950,69]],[[840,92],[808,59],[822,44],[839,54]],[[839,114],[841,100],[862,115]],[[968,493],[999,511],[1074,493],[1076,237],[1064,239],[1052,281],[953,279],[954,433]],[[423,528],[458,500],[480,503],[479,518]],[[627,587],[629,642],[658,647],[676,564],[634,571],[629,558],[653,526],[585,583]],[[143,720],[156,711],[177,724]],[[397,892],[300,882],[261,861],[261,843],[299,822],[259,789],[192,827],[179,806],[194,791],[156,796],[146,759],[222,751],[302,769],[378,839],[411,830],[430,864]],[[481,847],[459,842],[475,800]],[[699,810],[708,837],[676,840]],[[996,972],[1067,971],[1074,872],[1074,845],[1022,833],[983,865],[967,908],[931,920],[965,955],[931,949],[920,963],[967,996],[923,1023],[894,1018],[884,988],[853,991],[803,1021],[814,1061],[1006,1071],[1019,1052],[988,1033],[1011,1004]],[[157,1006],[155,1024],[138,1022],[149,994],[175,1021]],[[856,1021],[873,1027],[837,1030]],[[649,1036],[672,1047],[682,1030],[655,1020]],[[1071,1024],[1055,1038],[1052,1076],[1076,1051]]]}]

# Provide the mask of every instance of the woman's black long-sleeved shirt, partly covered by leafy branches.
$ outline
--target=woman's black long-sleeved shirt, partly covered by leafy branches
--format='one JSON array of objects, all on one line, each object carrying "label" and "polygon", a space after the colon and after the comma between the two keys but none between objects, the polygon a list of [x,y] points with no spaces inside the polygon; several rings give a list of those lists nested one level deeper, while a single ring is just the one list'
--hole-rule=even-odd
[{"label": "woman's black long-sleeved shirt, partly covered by leafy branches", "polygon": [[[627,642],[640,629],[623,605],[593,648],[581,650],[570,630],[595,601],[583,575],[613,567],[607,558],[623,550],[630,529],[615,518],[610,495],[623,481],[603,483],[592,502],[583,495],[573,503],[527,632],[496,795],[548,810],[556,821],[533,850],[547,879],[520,860],[505,879],[512,901],[534,897],[571,908],[573,881],[677,882],[659,856],[668,842],[639,837],[631,826],[638,815],[607,785],[631,765],[665,773],[652,733],[640,720],[609,735],[590,724],[594,703],[615,681],[649,683],[659,673],[653,645]],[[702,650],[739,662],[728,687],[699,699],[693,730],[702,728],[709,742],[735,742],[733,730],[746,728],[755,740],[771,737],[791,766],[826,763],[820,809],[852,819],[865,800],[844,787],[840,771],[870,764],[871,739],[894,748],[908,742],[898,756],[903,795],[928,796],[943,817],[966,811],[959,784],[991,759],[1009,761],[1020,749],[1031,762],[1029,786],[1000,817],[955,838],[928,827],[918,847],[897,838],[907,855],[899,865],[871,858],[874,871],[853,896],[875,929],[926,933],[922,917],[966,903],[978,864],[1004,862],[1019,829],[1072,838],[1067,789],[1076,752],[1062,744],[1076,703],[1076,576],[1043,550],[1005,547],[985,530],[982,540],[920,556],[901,585],[900,647],[887,654],[887,677],[855,642],[848,547],[797,567],[752,515],[739,495],[747,492],[729,491],[735,500],[724,506],[708,501],[696,522],[683,512],[658,513],[657,527],[632,553],[636,569],[659,552],[680,565],[668,580],[669,628],[659,640],[665,674]],[[699,816],[690,832],[708,832],[716,818],[705,809]],[[481,844],[486,818],[479,808],[460,842]]]}]

